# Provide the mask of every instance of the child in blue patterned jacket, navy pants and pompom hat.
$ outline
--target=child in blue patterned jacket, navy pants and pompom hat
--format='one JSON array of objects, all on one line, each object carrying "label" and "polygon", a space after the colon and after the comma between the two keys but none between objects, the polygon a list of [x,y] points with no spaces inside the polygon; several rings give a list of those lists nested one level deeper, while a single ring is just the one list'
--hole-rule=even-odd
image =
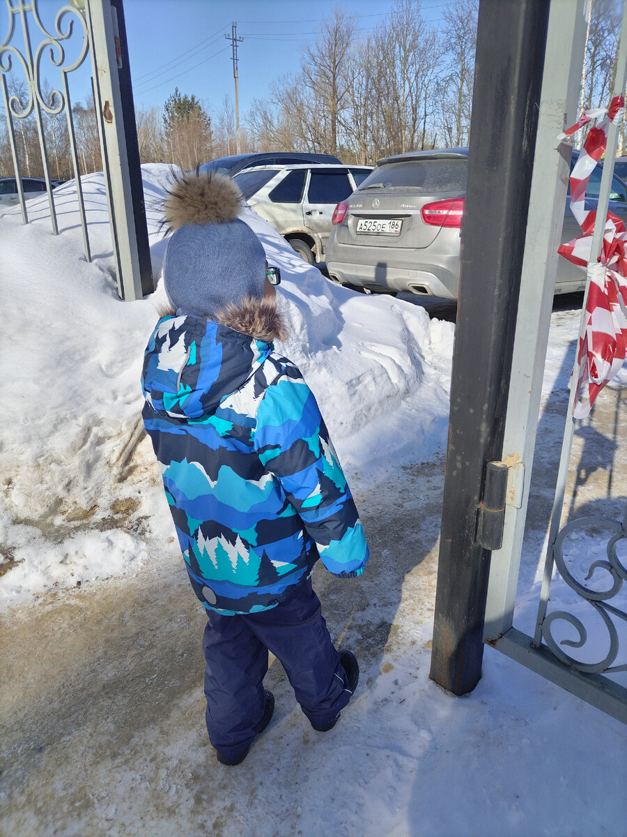
[{"label": "child in blue patterned jacket, navy pants and pompom hat", "polygon": [[186,570],[206,608],[206,727],[238,764],[268,725],[268,650],[315,730],[334,726],[359,678],[335,650],[310,575],[364,570],[368,547],[318,404],[285,339],[263,245],[237,218],[228,177],[181,177],[165,203],[171,316],[145,351],[143,418]]}]

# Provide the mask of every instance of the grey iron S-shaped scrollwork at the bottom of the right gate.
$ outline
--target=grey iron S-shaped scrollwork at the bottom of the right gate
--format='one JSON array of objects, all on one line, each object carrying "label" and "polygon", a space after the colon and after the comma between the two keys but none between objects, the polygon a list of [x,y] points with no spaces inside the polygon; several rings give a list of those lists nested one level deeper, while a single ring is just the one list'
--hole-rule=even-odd
[{"label": "grey iron S-shaped scrollwork at the bottom of the right gate", "polygon": [[[599,528],[602,527],[610,533],[606,548],[607,561],[597,560],[591,562],[588,574],[584,578],[584,582],[588,582],[597,570],[604,571],[604,573],[607,573],[607,583],[604,584],[604,590],[593,590],[585,583],[579,582],[568,569],[563,555],[566,538],[573,531],[585,529],[589,526],[599,526]],[[553,546],[553,560],[558,569],[558,573],[563,578],[563,581],[568,584],[568,587],[572,588],[580,598],[584,599],[594,608],[603,620],[609,634],[609,651],[604,659],[595,663],[583,663],[568,655],[560,646],[568,645],[571,648],[583,648],[588,642],[588,632],[584,624],[577,616],[568,614],[564,610],[556,610],[548,615],[543,615],[543,609],[545,612],[545,608],[541,607],[540,614],[538,614],[538,630],[534,645],[537,647],[539,634],[541,634],[542,639],[558,660],[561,660],[565,665],[569,665],[575,670],[589,674],[610,674],[617,671],[627,671],[627,664],[613,665],[619,653],[619,632],[614,621],[610,618],[611,614],[627,623],[627,613],[615,607],[613,603],[610,603],[610,599],[618,595],[623,586],[623,582],[627,580],[627,568],[620,561],[616,548],[619,542],[625,539],[627,539],[627,506],[625,507],[622,522],[597,516],[580,517],[564,526],[556,538]],[[579,639],[562,639],[558,643],[553,637],[553,624],[558,621],[566,621],[572,624],[579,633]]]}]

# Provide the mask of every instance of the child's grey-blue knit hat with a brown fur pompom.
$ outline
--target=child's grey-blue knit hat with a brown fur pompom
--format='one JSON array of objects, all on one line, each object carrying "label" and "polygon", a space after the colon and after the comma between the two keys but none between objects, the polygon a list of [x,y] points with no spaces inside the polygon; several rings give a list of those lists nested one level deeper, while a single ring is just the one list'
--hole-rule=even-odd
[{"label": "child's grey-blue knit hat with a brown fur pompom", "polygon": [[164,203],[172,232],[163,263],[176,311],[211,317],[230,302],[263,298],[266,253],[237,218],[242,193],[230,177],[195,172],[177,177]]}]

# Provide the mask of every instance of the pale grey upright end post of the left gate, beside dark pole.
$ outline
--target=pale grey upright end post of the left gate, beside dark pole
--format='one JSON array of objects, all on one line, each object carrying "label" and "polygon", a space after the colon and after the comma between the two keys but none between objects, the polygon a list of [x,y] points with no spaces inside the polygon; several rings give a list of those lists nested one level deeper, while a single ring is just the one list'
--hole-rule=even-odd
[{"label": "pale grey upright end post of the left gate, beside dark pole", "polygon": [[99,121],[111,239],[117,266],[118,293],[123,300],[142,298],[140,260],[133,216],[129,159],[115,53],[110,0],[87,0],[89,39],[94,66],[94,95]]}]

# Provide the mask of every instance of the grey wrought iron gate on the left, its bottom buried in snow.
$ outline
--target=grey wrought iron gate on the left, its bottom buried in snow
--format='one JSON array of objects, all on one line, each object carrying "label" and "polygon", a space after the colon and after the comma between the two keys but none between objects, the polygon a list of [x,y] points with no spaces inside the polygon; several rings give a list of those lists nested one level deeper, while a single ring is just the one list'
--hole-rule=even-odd
[{"label": "grey wrought iron gate on the left, its bottom buried in snow", "polygon": [[[52,117],[65,112],[80,223],[83,229],[84,254],[88,261],[91,260],[89,230],[80,181],[79,151],[76,145],[69,90],[69,75],[84,64],[89,53],[92,63],[100,151],[109,205],[111,238],[117,266],[118,292],[122,299],[140,299],[144,292],[151,290],[151,277],[149,276],[148,283],[144,281],[145,287],[142,290],[142,272],[145,274],[146,270],[144,267],[142,271],[140,267],[138,232],[135,227],[134,200],[130,185],[118,74],[119,49],[116,53],[119,33],[115,5],[111,0],[69,0],[71,5],[59,8],[54,18],[53,31],[48,31],[42,21],[38,0],[5,0],[5,3],[8,13],[8,32],[0,43],[0,85],[3,91],[8,139],[23,223],[28,223],[28,207],[24,199],[16,127],[20,125],[23,127],[23,121],[34,115],[43,163],[43,176],[48,192],[50,222],[53,233],[57,235],[59,224],[43,120],[44,115]],[[67,62],[66,49],[75,27],[78,27],[79,32],[82,33],[82,44],[76,58]],[[18,49],[15,44],[18,39],[18,30],[21,30],[23,36],[21,49]],[[35,44],[34,49],[33,44]],[[58,69],[61,76],[59,88],[54,87],[46,93],[43,91],[42,63],[44,58],[49,59],[50,67]],[[26,88],[23,94],[9,90],[8,78],[16,71],[23,74],[21,80]],[[135,203],[137,203],[136,200]],[[140,237],[142,237],[141,229]],[[147,247],[147,233],[144,237]],[[145,257],[142,260],[145,264]],[[148,273],[150,274],[150,269]]]}]

